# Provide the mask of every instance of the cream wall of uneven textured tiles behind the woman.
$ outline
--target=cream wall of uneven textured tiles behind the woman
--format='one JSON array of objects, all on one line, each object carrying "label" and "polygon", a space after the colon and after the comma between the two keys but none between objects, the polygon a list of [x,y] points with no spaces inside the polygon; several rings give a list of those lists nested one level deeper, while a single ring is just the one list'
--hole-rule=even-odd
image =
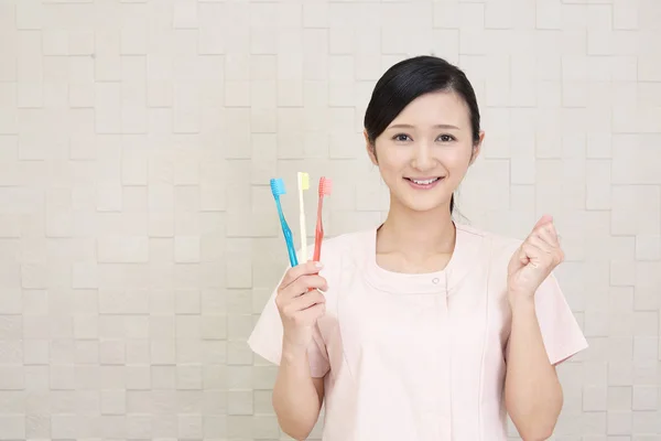
[{"label": "cream wall of uneven textured tiles behind the woman", "polygon": [[286,439],[246,345],[286,265],[268,180],[378,223],[364,109],[426,53],[484,115],[462,213],[563,235],[590,348],[555,439],[661,440],[660,0],[0,0],[0,439]]}]

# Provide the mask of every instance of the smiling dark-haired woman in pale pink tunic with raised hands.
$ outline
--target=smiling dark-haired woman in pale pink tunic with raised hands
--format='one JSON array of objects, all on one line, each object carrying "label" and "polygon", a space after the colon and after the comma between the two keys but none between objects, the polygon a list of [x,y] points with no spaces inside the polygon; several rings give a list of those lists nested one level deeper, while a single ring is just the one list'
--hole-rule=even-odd
[{"label": "smiling dark-haired woman in pale pink tunic with raised hands", "polygon": [[280,365],[283,431],[305,439],[325,402],[326,441],[506,440],[507,413],[524,440],[549,438],[555,366],[587,344],[551,272],[550,216],[523,241],[453,222],[484,139],[470,83],[437,57],[395,64],[365,138],[387,219],[327,240],[323,267],[289,269],[249,340]]}]

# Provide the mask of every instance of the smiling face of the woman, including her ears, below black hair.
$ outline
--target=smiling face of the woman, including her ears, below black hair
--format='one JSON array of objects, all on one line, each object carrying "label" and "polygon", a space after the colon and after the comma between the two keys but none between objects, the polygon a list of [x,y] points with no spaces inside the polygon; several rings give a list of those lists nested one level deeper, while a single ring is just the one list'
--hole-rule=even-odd
[{"label": "smiling face of the woman, including her ears, below black hair", "polygon": [[449,206],[483,139],[480,133],[474,142],[468,106],[462,97],[436,92],[411,101],[373,146],[367,144],[390,189],[391,202],[425,212]]}]

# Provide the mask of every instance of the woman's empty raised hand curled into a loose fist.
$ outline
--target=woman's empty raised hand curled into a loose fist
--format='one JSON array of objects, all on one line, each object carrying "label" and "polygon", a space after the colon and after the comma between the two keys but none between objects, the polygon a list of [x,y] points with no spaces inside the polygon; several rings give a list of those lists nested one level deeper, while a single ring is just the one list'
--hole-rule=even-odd
[{"label": "woman's empty raised hand curled into a loose fist", "polygon": [[532,299],[551,271],[564,260],[553,217],[542,216],[508,266],[508,297]]}]

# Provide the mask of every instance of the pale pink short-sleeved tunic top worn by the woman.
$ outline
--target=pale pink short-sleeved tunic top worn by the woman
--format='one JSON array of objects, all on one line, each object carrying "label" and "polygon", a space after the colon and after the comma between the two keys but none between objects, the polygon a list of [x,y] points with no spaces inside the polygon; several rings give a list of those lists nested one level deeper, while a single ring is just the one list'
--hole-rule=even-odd
[{"label": "pale pink short-sleeved tunic top worn by the woman", "polygon": [[[444,270],[404,275],[377,265],[376,235],[346,234],[322,250],[327,309],[308,358],[312,375],[326,376],[323,440],[506,440],[507,266],[520,241],[457,225]],[[249,345],[278,364],[274,294]],[[535,310],[552,364],[587,347],[553,276]]]}]

